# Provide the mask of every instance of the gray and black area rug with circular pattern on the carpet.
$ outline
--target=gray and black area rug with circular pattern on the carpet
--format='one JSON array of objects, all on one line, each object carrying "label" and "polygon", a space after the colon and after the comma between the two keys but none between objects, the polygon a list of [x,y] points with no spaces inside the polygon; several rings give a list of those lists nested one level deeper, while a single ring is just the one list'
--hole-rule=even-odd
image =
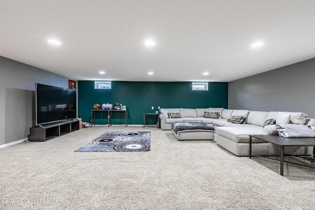
[{"label": "gray and black area rug with circular pattern on the carpet", "polygon": [[106,132],[75,151],[148,151],[150,131]]}]

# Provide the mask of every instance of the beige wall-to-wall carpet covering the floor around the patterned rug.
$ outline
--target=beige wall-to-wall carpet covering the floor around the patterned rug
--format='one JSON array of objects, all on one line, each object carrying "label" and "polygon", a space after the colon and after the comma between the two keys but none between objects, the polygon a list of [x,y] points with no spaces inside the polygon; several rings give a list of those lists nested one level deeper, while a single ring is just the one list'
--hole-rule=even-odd
[{"label": "beige wall-to-wall carpet covering the floor around the patterned rug", "polygon": [[[127,130],[151,131],[151,150],[74,152]],[[214,141],[177,141],[157,128],[88,127],[0,149],[0,159],[1,198],[18,200],[0,209],[315,209],[315,170],[285,165],[282,177],[277,161],[237,157]]]}]

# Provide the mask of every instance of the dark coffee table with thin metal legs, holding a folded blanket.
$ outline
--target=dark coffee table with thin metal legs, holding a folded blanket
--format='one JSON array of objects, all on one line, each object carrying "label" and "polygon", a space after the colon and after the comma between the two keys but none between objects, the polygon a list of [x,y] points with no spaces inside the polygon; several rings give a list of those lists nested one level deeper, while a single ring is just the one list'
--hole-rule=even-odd
[{"label": "dark coffee table with thin metal legs, holding a folded blanket", "polygon": [[[279,145],[281,147],[281,154],[280,154],[280,175],[281,176],[284,176],[284,147],[290,147],[290,146],[315,147],[315,138],[284,138],[278,135],[250,135],[250,152],[249,152],[250,158],[252,158],[252,137],[265,140],[267,142]],[[313,150],[313,156],[314,156],[314,150]],[[307,167],[310,167],[310,166],[307,166]]]}]

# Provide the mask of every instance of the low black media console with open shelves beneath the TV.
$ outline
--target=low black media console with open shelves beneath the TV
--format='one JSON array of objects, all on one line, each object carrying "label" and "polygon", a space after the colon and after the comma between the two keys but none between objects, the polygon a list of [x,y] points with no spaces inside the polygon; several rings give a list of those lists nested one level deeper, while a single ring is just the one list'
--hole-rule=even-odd
[{"label": "low black media console with open shelves beneath the TV", "polygon": [[75,130],[79,130],[77,119],[40,124],[30,128],[30,141],[45,142]]}]

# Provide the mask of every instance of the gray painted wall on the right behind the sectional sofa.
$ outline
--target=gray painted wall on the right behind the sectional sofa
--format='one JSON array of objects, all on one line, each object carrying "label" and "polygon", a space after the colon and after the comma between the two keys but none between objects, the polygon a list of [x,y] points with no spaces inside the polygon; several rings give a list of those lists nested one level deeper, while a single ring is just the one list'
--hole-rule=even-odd
[{"label": "gray painted wall on the right behind the sectional sofa", "polygon": [[228,108],[303,112],[315,118],[315,59],[228,83]]}]

